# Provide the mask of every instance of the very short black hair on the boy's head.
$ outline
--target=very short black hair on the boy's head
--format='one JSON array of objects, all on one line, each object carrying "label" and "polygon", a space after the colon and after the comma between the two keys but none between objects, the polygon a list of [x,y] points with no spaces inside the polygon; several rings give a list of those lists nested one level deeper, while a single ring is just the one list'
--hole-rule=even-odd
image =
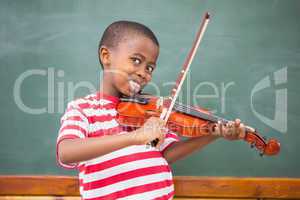
[{"label": "very short black hair on the boy's head", "polygon": [[[159,47],[159,42],[155,34],[147,26],[133,21],[116,21],[110,24],[104,31],[102,38],[99,42],[98,55],[100,48],[104,45],[108,48],[115,48],[119,43],[128,35],[142,35],[149,38],[154,44]],[[132,36],[133,35],[133,36]],[[99,55],[99,62],[103,68],[103,64]]]}]

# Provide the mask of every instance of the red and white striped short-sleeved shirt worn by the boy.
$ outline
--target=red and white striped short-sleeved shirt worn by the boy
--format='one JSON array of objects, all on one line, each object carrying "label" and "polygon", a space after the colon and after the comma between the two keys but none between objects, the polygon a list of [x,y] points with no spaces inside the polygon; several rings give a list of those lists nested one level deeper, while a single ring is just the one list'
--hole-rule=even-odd
[{"label": "red and white striped short-sleeved shirt worn by the boy", "polygon": [[[70,102],[61,118],[56,150],[67,138],[124,133],[116,120],[118,101],[117,97],[96,93]],[[159,149],[133,145],[73,165],[61,163],[58,154],[57,161],[65,168],[79,170],[83,199],[172,199],[172,173],[162,152],[178,140],[176,134],[168,132]]]}]

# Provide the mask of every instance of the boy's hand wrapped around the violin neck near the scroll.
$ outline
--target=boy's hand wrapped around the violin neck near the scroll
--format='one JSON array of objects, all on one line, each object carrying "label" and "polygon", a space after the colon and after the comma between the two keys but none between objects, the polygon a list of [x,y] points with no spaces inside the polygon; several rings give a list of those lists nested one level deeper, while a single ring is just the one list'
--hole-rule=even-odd
[{"label": "boy's hand wrapped around the violin neck near the scroll", "polygon": [[245,125],[240,119],[229,121],[226,124],[218,122],[213,125],[212,135],[224,137],[227,140],[238,140],[245,137]]}]

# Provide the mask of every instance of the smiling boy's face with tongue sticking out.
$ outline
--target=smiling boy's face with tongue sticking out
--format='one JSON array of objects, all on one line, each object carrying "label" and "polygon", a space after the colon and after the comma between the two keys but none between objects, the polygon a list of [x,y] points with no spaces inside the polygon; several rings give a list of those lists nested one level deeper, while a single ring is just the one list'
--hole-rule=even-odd
[{"label": "smiling boy's face with tongue sticking out", "polygon": [[133,96],[152,79],[159,47],[149,38],[135,36],[124,39],[110,50],[105,68],[106,93]]}]

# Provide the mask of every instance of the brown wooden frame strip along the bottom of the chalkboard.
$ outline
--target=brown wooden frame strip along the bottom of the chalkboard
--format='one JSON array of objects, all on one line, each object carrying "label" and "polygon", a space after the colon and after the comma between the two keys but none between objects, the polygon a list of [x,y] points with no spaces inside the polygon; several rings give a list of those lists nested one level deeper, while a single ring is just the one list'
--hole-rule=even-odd
[{"label": "brown wooden frame strip along the bottom of the chalkboard", "polygon": [[[176,198],[300,198],[300,178],[176,176],[174,183]],[[21,195],[79,196],[78,179],[75,176],[0,176],[0,199]]]}]

